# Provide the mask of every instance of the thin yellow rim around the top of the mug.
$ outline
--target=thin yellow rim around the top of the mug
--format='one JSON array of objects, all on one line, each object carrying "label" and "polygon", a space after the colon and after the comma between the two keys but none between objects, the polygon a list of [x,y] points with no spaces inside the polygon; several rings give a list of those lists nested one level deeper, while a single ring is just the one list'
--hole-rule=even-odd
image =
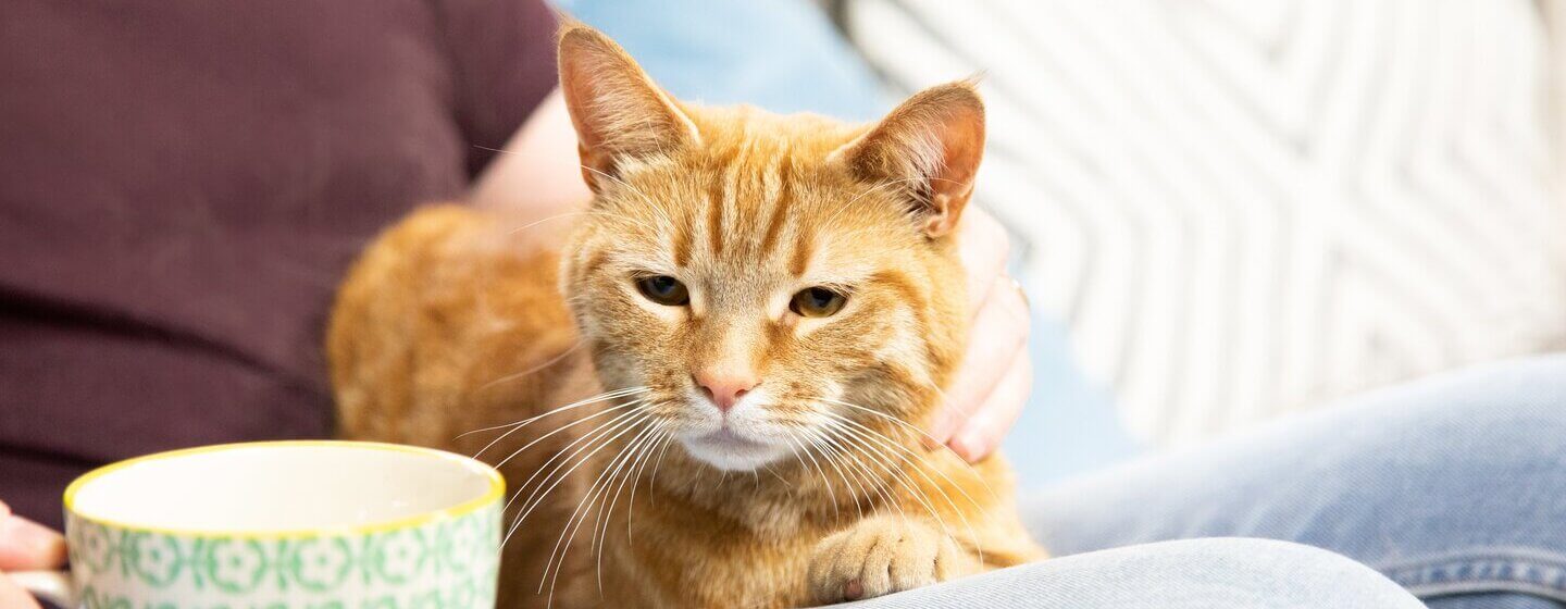
[{"label": "thin yellow rim around the top of the mug", "polygon": [[[174,528],[163,528],[163,526],[132,524],[132,523],[124,523],[124,521],[117,521],[117,520],[113,520],[113,518],[100,518],[100,517],[92,517],[92,515],[86,515],[86,514],[77,512],[77,506],[75,506],[77,492],[81,490],[85,485],[91,484],[94,479],[103,477],[103,476],[111,474],[114,471],[119,471],[119,470],[124,470],[124,468],[128,468],[128,467],[133,467],[133,465],[139,465],[139,463],[147,463],[147,462],[163,460],[163,459],[172,459],[172,457],[185,457],[185,456],[191,456],[191,454],[221,452],[221,451],[233,451],[233,449],[244,449],[244,448],[272,448],[272,446],[360,448],[360,449],[373,449],[373,451],[410,452],[410,454],[423,454],[423,456],[438,457],[438,459],[445,459],[445,460],[451,460],[451,462],[460,463],[460,465],[467,467],[471,471],[482,473],[484,477],[489,479],[489,490],[484,492],[484,495],[481,495],[481,496],[478,496],[474,499],[468,499],[468,501],[459,503],[456,506],[443,507],[443,509],[438,509],[438,510],[429,510],[429,512],[415,514],[415,515],[410,515],[410,517],[392,518],[392,520],[384,520],[384,521],[376,521],[376,523],[345,524],[345,526],[323,526],[323,528],[313,528],[313,529],[277,529],[277,531],[254,531],[254,529],[251,529],[251,531],[244,531],[244,529],[238,529],[238,531],[222,531],[222,529],[174,529]],[[500,474],[500,471],[496,471],[495,468],[485,465],[484,462],[479,462],[478,459],[464,457],[464,456],[456,454],[456,452],[446,452],[446,451],[438,451],[438,449],[434,449],[434,448],[423,448],[423,446],[390,445],[390,443],[382,443],[382,441],[354,441],[354,440],[272,440],[272,441],[238,441],[238,443],[230,443],[230,445],[183,448],[183,449],[177,449],[177,451],[153,452],[153,454],[147,454],[147,456],[133,457],[133,459],[127,459],[127,460],[122,460],[122,462],[114,462],[114,463],[110,463],[110,465],[103,465],[103,467],[100,467],[97,470],[92,470],[92,471],[88,471],[88,473],[81,474],[80,477],[77,477],[75,481],[72,481],[69,487],[66,487],[66,512],[67,512],[67,515],[70,515],[74,518],[81,518],[81,520],[86,520],[86,521],[91,521],[91,523],[97,523],[97,524],[102,524],[102,526],[108,526],[108,528],[114,528],[114,529],[136,531],[136,532],[155,532],[155,534],[179,535],[179,537],[229,537],[229,539],[335,537],[335,535],[366,535],[366,534],[377,534],[377,532],[387,532],[387,531],[396,531],[396,529],[407,529],[407,528],[424,526],[424,524],[429,524],[429,523],[434,523],[434,521],[440,521],[440,520],[446,520],[446,518],[457,518],[457,517],[476,512],[476,510],[479,510],[479,509],[482,509],[482,507],[485,507],[485,506],[489,506],[492,503],[496,503],[504,495],[506,495],[506,479]]]}]

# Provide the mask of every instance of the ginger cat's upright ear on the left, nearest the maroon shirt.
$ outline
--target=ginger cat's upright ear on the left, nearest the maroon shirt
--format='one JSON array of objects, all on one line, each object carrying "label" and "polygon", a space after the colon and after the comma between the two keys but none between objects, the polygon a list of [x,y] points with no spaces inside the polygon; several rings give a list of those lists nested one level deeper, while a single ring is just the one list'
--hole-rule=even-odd
[{"label": "ginger cat's upright ear on the left, nearest the maroon shirt", "polygon": [[559,38],[561,92],[576,127],[583,178],[595,193],[622,163],[700,141],[695,124],[603,33],[567,23]]}]

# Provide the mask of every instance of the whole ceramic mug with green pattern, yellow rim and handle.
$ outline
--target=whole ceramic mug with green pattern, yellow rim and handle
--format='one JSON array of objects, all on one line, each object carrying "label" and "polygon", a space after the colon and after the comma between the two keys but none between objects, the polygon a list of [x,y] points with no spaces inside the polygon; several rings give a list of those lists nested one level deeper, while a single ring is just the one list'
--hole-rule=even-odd
[{"label": "whole ceramic mug with green pattern, yellow rim and handle", "polygon": [[493,607],[504,482],[451,452],[262,441],[161,452],[66,488],[70,573],[13,573],[89,609]]}]

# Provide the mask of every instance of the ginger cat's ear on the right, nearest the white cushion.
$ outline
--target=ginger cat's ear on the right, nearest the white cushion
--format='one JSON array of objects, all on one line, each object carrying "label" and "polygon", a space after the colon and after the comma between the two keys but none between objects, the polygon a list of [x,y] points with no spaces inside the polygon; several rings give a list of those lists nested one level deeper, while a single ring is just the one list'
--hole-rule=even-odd
[{"label": "ginger cat's ear on the right, nearest the white cushion", "polygon": [[835,150],[858,178],[894,183],[930,236],[951,233],[983,158],[983,102],[972,81],[919,91],[869,132]]}]

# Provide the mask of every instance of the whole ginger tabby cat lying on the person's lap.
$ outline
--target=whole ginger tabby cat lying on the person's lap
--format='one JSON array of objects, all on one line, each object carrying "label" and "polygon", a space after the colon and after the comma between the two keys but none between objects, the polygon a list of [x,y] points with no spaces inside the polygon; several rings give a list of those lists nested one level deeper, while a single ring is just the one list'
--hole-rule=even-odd
[{"label": "whole ginger tabby cat lying on the person's lap", "polygon": [[677,102],[581,25],[559,69],[597,194],[568,244],[421,210],[327,337],[343,437],[500,463],[501,606],[808,606],[1041,557],[1005,463],[919,432],[965,344],[972,86],[863,127]]}]

